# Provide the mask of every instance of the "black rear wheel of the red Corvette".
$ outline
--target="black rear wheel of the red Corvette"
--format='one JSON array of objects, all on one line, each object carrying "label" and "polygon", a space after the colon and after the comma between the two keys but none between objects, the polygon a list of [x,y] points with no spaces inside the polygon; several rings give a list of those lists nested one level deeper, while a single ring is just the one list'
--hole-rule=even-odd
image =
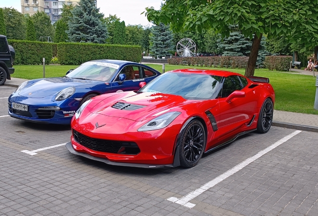
[{"label": "black rear wheel of the red Corvette", "polygon": [[273,105],[271,99],[267,98],[263,102],[260,108],[258,120],[257,120],[257,131],[260,133],[266,133],[272,123],[273,118]]}]

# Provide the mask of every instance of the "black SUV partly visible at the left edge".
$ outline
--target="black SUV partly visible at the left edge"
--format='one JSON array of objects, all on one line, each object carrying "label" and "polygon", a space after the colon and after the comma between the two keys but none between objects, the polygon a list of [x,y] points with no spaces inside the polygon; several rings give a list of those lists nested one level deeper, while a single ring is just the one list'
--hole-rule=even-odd
[{"label": "black SUV partly visible at the left edge", "polygon": [[0,34],[0,85],[3,85],[6,79],[11,79],[14,57],[13,47],[7,43],[6,36]]}]

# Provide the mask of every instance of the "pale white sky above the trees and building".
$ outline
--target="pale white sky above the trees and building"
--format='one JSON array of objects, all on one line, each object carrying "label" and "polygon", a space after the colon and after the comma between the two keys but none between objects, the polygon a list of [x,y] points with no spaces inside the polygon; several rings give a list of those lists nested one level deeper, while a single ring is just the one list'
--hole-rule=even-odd
[{"label": "pale white sky above the trees and building", "polygon": [[[67,0],[66,0],[67,1]],[[146,7],[153,6],[159,9],[163,0],[97,0],[99,11],[108,16],[116,14],[120,21],[125,24],[141,24],[143,26],[150,24],[143,12]],[[21,12],[20,0],[0,0],[0,7],[13,7]]]}]

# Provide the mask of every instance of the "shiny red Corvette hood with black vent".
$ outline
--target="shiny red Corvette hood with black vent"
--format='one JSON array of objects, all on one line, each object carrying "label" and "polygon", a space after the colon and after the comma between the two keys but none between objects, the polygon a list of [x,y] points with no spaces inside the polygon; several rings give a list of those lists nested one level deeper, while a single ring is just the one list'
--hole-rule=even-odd
[{"label": "shiny red Corvette hood with black vent", "polygon": [[[142,121],[167,111],[180,110],[182,105],[189,102],[191,101],[178,95],[133,92],[118,100],[109,101],[109,99],[106,98],[92,107],[89,111],[112,117],[122,117],[134,121]],[[192,102],[195,101],[192,100]]]}]

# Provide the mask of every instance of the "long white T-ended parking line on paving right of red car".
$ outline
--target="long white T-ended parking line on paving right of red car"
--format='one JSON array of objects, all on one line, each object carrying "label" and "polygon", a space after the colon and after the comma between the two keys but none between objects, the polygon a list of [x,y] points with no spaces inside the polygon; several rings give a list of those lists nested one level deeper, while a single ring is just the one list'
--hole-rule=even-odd
[{"label": "long white T-ended parking line on paving right of red car", "polygon": [[280,144],[284,143],[285,141],[287,141],[288,139],[292,138],[293,136],[295,136],[296,134],[298,134],[300,132],[301,132],[301,130],[293,131],[289,135],[286,135],[285,137],[279,139],[278,141],[276,141],[275,143],[273,143],[270,146],[266,147],[265,149],[259,151],[254,156],[251,156],[251,157],[245,159],[243,162],[241,162],[238,165],[234,166],[233,168],[227,170],[223,174],[220,174],[219,176],[217,176],[213,180],[210,180],[209,182],[203,184],[200,188],[192,190],[191,192],[189,192],[185,196],[182,196],[181,198],[176,198],[176,197],[171,196],[171,197],[167,198],[167,200],[175,202],[175,203],[178,203],[178,204],[181,204],[181,205],[183,205],[185,207],[188,207],[188,208],[194,207],[195,204],[189,202],[191,199],[195,198],[196,196],[200,195],[204,191],[206,191],[209,188],[213,187],[214,185],[216,185],[217,183],[221,182],[225,178],[227,178],[227,177],[231,176],[232,174],[236,173],[237,171],[239,171],[240,169],[244,168],[249,163],[255,161],[256,159],[258,159],[259,157],[261,157],[265,153],[271,151],[275,147],[279,146]]}]

